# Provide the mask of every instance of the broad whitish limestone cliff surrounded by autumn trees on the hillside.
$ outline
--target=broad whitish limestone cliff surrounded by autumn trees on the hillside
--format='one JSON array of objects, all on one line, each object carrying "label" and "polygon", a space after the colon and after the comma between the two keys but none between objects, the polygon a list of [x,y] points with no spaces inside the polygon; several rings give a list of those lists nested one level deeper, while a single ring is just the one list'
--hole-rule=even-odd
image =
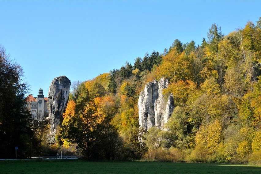
[{"label": "broad whitish limestone cliff surrounded by autumn trees on the hillside", "polygon": [[162,90],[167,87],[168,80],[161,78],[160,81],[149,82],[140,93],[138,99],[139,125],[145,132],[150,127],[164,130],[164,125],[173,112],[173,95],[170,94],[167,101],[162,95]]}]

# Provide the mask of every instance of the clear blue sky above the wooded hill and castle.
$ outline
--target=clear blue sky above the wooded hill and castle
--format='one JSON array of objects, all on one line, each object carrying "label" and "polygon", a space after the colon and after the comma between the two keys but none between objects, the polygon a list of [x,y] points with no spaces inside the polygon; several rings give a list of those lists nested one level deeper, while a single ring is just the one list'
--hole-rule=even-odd
[{"label": "clear blue sky above the wooded hill and castle", "polygon": [[[261,1],[0,1],[0,44],[37,96],[65,75],[85,81],[175,39],[201,44],[213,23],[227,35],[261,17]],[[1,79],[0,79],[1,80]]]}]

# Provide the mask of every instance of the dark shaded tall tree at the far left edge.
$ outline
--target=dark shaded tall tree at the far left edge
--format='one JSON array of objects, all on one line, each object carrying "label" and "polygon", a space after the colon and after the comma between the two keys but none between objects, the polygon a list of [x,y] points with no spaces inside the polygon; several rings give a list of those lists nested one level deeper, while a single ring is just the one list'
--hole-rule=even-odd
[{"label": "dark shaded tall tree at the far left edge", "polygon": [[34,138],[32,115],[25,108],[27,84],[23,82],[23,70],[9,59],[0,45],[0,148],[1,158],[29,157],[30,139]]}]

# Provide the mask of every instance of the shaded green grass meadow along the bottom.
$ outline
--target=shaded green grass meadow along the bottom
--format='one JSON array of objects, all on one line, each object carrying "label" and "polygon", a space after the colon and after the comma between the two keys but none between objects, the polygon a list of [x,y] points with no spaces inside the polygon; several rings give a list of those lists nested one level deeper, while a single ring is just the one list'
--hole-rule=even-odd
[{"label": "shaded green grass meadow along the bottom", "polygon": [[67,173],[253,173],[261,174],[261,166],[218,163],[168,162],[88,162],[71,160],[0,161],[0,173],[67,174]]}]

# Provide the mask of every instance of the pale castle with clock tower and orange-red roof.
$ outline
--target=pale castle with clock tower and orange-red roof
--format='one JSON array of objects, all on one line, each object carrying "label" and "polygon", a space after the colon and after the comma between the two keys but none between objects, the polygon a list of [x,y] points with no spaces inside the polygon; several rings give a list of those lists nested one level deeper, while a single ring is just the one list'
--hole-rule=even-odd
[{"label": "pale castle with clock tower and orange-red roof", "polygon": [[48,116],[48,105],[48,98],[44,97],[42,88],[39,89],[37,97],[32,96],[32,94],[27,96],[27,108],[36,118],[43,118],[43,116]]}]

